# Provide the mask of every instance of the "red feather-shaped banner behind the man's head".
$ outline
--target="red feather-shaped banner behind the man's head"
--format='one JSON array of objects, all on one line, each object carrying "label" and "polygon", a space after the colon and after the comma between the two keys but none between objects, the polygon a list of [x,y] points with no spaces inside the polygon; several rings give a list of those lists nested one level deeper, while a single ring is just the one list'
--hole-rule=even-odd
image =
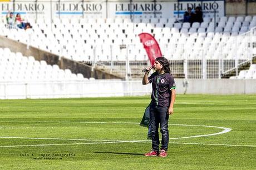
[{"label": "red feather-shaped banner behind the man's head", "polygon": [[149,33],[141,33],[139,34],[140,42],[143,44],[147,57],[149,57],[149,61],[151,65],[155,63],[155,59],[157,57],[162,57],[161,49],[159,44],[155,40],[153,36]]}]

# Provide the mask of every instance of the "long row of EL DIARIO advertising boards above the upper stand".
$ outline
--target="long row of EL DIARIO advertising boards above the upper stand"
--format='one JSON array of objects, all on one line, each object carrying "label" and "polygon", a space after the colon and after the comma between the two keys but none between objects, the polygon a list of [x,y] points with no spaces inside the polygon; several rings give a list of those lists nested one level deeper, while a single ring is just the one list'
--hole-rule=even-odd
[{"label": "long row of EL DIARIO advertising boards above the upper stand", "polygon": [[29,18],[182,18],[191,7],[201,7],[204,17],[224,16],[224,1],[111,2],[111,1],[0,1],[0,15],[8,11]]}]

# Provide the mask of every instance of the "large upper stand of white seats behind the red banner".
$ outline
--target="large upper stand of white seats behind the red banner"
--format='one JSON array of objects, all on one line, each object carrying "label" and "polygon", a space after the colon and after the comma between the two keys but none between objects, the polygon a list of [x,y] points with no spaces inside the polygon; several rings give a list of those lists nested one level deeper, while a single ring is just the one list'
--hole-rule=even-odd
[{"label": "large upper stand of white seats behind the red banner", "polygon": [[[53,24],[41,18],[31,21],[31,34],[8,29],[3,24],[1,34],[74,61],[100,63],[99,67],[110,61],[126,62],[126,55],[130,61],[146,62],[146,53],[137,37],[141,32],[154,34],[169,60],[221,58],[226,62],[239,59],[242,63],[250,59],[249,40],[244,33],[256,26],[255,16],[216,18],[216,28],[213,18],[204,19],[203,23],[190,26],[176,22],[175,18],[134,18],[133,22],[122,18],[56,18]],[[227,70],[234,67],[229,65]]]}]

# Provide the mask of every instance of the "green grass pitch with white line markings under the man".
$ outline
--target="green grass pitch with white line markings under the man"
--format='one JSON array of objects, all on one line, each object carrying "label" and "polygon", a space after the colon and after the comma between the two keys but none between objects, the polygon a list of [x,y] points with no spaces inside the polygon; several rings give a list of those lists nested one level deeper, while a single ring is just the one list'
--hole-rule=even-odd
[{"label": "green grass pitch with white line markings under the man", "polygon": [[[0,169],[256,169],[256,96],[178,95],[166,158],[143,156],[151,141],[138,123],[149,102],[1,100]],[[183,138],[223,131],[216,127],[232,130]]]}]

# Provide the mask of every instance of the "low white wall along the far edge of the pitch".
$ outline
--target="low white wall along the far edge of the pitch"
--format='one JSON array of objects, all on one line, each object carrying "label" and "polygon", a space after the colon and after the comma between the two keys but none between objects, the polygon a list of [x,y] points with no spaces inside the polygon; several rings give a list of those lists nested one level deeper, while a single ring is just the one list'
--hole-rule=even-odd
[{"label": "low white wall along the far edge of the pitch", "polygon": [[[256,94],[256,79],[175,79],[177,94]],[[187,86],[186,86],[187,84]],[[150,95],[141,81],[87,80],[1,82],[0,99]]]}]

